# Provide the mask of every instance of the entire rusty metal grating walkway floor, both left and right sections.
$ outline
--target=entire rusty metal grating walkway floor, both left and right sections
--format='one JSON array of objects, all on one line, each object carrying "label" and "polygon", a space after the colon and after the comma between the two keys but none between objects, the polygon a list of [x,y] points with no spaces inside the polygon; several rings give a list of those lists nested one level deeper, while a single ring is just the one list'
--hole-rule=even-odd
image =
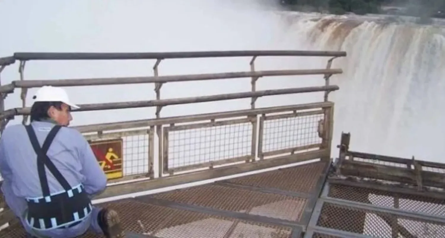
[{"label": "entire rusty metal grating walkway floor, both left and right sections", "polygon": [[[319,161],[99,206],[121,214],[128,238],[445,237],[443,192],[359,181],[345,168]],[[24,237],[18,223],[0,235]]]}]

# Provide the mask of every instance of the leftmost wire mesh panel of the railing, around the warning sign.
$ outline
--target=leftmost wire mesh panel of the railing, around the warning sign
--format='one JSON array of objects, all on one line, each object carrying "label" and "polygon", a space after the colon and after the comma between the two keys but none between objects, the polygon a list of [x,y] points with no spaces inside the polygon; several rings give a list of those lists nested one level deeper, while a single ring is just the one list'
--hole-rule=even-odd
[{"label": "leftmost wire mesh panel of the railing, around the warning sign", "polygon": [[[92,148],[94,147],[94,144],[101,144],[102,142],[106,144],[109,141],[121,140],[122,152],[119,155],[116,154],[116,156],[121,156],[120,161],[122,163],[121,168],[123,176],[145,176],[152,171],[153,166],[153,156],[150,156],[150,149],[153,149],[153,147],[150,148],[150,144],[153,144],[153,131],[153,128],[138,129],[132,131],[103,133],[100,135],[100,138],[96,134],[85,135],[85,138],[89,140]],[[104,150],[102,153],[95,154],[99,161],[101,161],[101,157],[105,157],[105,162],[107,162],[106,157],[109,157],[109,155],[107,155],[108,152],[109,151]]]}]

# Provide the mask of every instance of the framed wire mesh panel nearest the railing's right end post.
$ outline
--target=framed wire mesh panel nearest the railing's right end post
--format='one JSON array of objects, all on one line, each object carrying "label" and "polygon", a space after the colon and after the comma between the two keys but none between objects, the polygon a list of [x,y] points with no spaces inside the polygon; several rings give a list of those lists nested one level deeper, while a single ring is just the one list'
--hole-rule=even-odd
[{"label": "framed wire mesh panel nearest the railing's right end post", "polygon": [[320,123],[324,118],[324,110],[261,116],[259,158],[320,148]]}]

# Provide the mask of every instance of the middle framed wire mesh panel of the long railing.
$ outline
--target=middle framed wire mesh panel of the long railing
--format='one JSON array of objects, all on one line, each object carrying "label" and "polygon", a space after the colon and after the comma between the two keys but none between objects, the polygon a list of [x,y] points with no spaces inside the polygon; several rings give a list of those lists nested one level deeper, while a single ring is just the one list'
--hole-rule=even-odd
[{"label": "middle framed wire mesh panel of the long railing", "polygon": [[256,117],[164,127],[164,171],[252,160]]}]

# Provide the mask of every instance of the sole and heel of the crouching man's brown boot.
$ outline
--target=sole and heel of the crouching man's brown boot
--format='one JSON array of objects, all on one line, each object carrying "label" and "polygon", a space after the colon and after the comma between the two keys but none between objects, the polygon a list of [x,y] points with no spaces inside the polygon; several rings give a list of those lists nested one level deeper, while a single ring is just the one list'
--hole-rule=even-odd
[{"label": "sole and heel of the crouching man's brown boot", "polygon": [[97,215],[97,222],[106,238],[124,238],[124,230],[121,227],[121,220],[115,210],[102,209]]}]

